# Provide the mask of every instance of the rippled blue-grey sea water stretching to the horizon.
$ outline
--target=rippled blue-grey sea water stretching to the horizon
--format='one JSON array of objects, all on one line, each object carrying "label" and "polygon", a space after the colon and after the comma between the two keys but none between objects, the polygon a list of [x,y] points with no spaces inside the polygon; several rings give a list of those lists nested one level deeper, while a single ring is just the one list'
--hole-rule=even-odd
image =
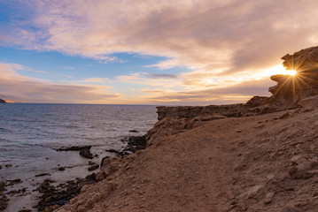
[{"label": "rippled blue-grey sea water stretching to the horizon", "polygon": [[[156,122],[156,106],[0,104],[0,181],[20,178],[21,184],[7,189],[25,187],[33,195],[13,198],[7,211],[21,208],[29,199],[35,201],[32,191],[44,178],[63,183],[91,174],[89,161],[99,164],[106,155],[112,156],[105,150],[124,148],[123,139],[145,134]],[[92,160],[78,151],[55,150],[86,145],[96,155]],[[35,177],[41,173],[49,176]]]}]

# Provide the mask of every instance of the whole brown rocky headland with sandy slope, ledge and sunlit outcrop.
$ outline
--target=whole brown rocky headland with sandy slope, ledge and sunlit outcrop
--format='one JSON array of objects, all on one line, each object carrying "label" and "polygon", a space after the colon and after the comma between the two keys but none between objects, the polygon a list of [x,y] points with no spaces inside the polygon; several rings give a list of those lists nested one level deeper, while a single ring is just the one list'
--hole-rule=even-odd
[{"label": "whole brown rocky headland with sandy slope, ledge and sunlit outcrop", "polygon": [[159,122],[104,158],[77,196],[41,210],[316,211],[318,47],[282,59],[297,74],[272,76],[271,96],[158,107]]}]

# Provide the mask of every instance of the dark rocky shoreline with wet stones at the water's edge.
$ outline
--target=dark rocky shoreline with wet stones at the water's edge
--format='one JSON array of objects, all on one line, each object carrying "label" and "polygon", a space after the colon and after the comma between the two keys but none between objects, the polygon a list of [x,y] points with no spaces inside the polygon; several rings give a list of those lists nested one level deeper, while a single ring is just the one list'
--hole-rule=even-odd
[{"label": "dark rocky shoreline with wet stones at the water's edge", "polygon": [[[132,132],[138,133],[138,132]],[[120,150],[108,149],[106,152],[111,153],[112,155],[122,156],[129,155],[135,153],[138,149],[145,148],[145,140],[144,136],[125,136],[124,139],[120,140],[122,143],[126,143],[124,148]],[[91,146],[71,146],[71,147],[61,147],[61,148],[53,148],[55,151],[63,151],[63,152],[78,152],[80,157],[85,157],[85,155],[81,155],[81,150],[90,149]],[[96,157],[97,155],[95,155]],[[35,178],[43,178],[42,183],[34,184],[34,186],[24,186],[24,190],[19,189],[19,184],[24,183],[23,180],[17,178],[13,180],[5,180],[1,186],[2,192],[4,195],[2,196],[11,196],[9,198],[4,198],[0,200],[2,204],[2,210],[0,211],[52,211],[54,208],[58,208],[58,206],[63,206],[66,204],[71,198],[74,198],[76,195],[80,193],[81,187],[85,185],[89,185],[92,183],[97,183],[96,180],[96,170],[98,171],[103,161],[111,156],[105,156],[102,159],[99,159],[99,163],[94,163],[88,161],[89,163],[89,172],[90,174],[84,178],[73,178],[65,183],[57,183],[55,180],[51,180],[51,174],[49,173],[39,173],[35,174],[35,177],[31,180],[34,181]],[[99,157],[98,157],[99,158]],[[92,158],[88,158],[92,159]],[[100,164],[100,165],[99,165]],[[72,167],[59,167],[58,170],[55,170],[55,173],[60,173],[66,169]],[[79,167],[80,169],[85,169],[84,167]],[[4,169],[4,168],[2,168]],[[13,183],[12,183],[13,182]],[[14,186],[17,185],[17,186]],[[13,187],[12,187],[13,186]],[[8,188],[10,187],[10,189]],[[9,189],[9,190],[7,190]],[[26,192],[30,191],[30,192]],[[1,194],[1,193],[0,193]],[[18,196],[16,196],[18,195]],[[59,196],[57,198],[57,196]],[[58,205],[60,204],[60,205]]]}]

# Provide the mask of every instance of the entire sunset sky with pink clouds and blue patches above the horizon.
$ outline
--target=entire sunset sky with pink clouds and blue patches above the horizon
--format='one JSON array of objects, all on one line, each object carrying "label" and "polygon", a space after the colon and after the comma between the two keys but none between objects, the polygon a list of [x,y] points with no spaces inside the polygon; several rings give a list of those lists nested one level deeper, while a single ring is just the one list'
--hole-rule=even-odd
[{"label": "entire sunset sky with pink clouds and blue patches above the horizon", "polygon": [[270,95],[316,0],[0,0],[0,98],[208,105]]}]

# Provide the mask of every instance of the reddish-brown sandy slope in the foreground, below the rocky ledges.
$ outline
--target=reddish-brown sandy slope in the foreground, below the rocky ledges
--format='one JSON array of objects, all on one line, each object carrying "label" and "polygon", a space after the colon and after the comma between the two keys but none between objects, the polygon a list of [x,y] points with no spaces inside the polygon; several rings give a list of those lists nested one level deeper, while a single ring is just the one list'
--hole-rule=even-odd
[{"label": "reddish-brown sandy slope in the foreground, below the rocky ledges", "polygon": [[162,137],[58,211],[318,211],[317,117],[225,118]]}]

